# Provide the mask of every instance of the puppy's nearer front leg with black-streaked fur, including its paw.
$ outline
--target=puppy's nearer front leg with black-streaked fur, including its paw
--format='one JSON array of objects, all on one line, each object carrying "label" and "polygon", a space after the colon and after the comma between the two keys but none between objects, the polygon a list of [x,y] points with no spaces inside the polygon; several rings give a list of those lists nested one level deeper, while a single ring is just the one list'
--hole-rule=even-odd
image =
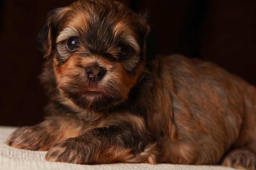
[{"label": "puppy's nearer front leg with black-streaked fur, including its paw", "polygon": [[[135,129],[134,129],[135,128]],[[113,162],[156,163],[156,144],[146,143],[146,135],[125,123],[94,128],[54,144],[45,158],[76,164]]]}]

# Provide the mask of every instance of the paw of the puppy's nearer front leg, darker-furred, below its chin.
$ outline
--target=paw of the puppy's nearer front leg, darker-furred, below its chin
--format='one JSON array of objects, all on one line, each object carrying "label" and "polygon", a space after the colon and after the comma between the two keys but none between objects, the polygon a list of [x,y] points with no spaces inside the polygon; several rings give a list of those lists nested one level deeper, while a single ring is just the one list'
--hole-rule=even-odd
[{"label": "paw of the puppy's nearer front leg, darker-furred, below its chin", "polygon": [[88,149],[85,149],[84,141],[77,137],[68,138],[60,143],[54,144],[45,155],[47,161],[67,162],[74,164],[88,164],[86,158]]}]

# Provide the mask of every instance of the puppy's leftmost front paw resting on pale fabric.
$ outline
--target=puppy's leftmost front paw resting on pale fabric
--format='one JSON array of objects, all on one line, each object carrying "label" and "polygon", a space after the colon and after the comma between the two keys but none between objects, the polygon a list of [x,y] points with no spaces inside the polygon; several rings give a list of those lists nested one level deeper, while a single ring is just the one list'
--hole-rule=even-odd
[{"label": "puppy's leftmost front paw resting on pale fabric", "polygon": [[15,148],[32,151],[47,151],[49,136],[40,126],[26,126],[15,130],[7,139],[6,144]]}]

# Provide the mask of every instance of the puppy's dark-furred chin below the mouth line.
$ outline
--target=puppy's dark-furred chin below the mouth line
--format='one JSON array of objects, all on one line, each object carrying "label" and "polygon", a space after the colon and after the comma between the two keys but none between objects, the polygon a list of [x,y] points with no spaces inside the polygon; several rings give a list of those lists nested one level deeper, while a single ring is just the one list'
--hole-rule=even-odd
[{"label": "puppy's dark-furred chin below the mouth line", "polygon": [[83,109],[91,109],[95,111],[108,110],[124,102],[122,95],[116,92],[106,92],[104,89],[77,89],[69,90],[68,88],[61,88],[64,96],[71,100],[76,106]]}]

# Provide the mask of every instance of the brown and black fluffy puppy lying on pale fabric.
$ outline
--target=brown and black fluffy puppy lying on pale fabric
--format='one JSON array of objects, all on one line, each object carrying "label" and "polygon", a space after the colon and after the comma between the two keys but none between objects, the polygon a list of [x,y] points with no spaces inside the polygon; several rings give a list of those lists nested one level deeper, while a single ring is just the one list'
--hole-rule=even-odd
[{"label": "brown and black fluffy puppy lying on pale fabric", "polygon": [[119,2],[81,0],[54,10],[38,36],[49,115],[7,144],[77,164],[254,169],[255,87],[212,63],[150,55],[149,29]]}]

